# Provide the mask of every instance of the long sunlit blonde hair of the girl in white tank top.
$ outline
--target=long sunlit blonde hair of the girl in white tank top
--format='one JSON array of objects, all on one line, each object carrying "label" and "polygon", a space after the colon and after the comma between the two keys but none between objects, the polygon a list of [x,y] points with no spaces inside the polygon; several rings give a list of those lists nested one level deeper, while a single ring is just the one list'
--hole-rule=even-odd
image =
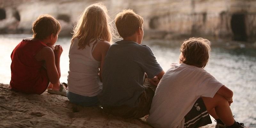
[{"label": "long sunlit blonde hair of the girl in white tank top", "polygon": [[112,34],[114,34],[114,28],[112,27],[106,6],[102,3],[91,4],[80,15],[73,29],[71,42],[78,38],[78,49],[84,49],[86,45],[90,46],[92,39],[111,43]]}]

